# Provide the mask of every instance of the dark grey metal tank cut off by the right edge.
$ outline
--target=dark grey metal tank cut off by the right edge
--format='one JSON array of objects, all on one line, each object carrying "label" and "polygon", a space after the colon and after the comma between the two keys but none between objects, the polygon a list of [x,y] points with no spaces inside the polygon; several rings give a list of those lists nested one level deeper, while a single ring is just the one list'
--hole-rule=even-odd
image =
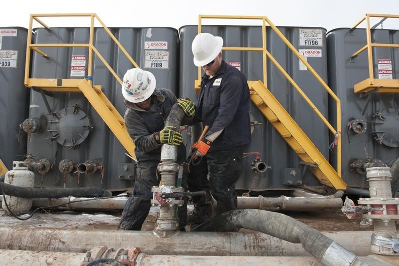
[{"label": "dark grey metal tank cut off by the right edge", "polygon": [[[374,43],[399,43],[399,30],[372,29],[371,39]],[[364,28],[337,28],[327,34],[328,84],[341,99],[342,178],[349,187],[360,188],[369,184],[359,165],[368,161],[390,165],[399,157],[399,94],[354,92],[354,85],[369,77],[367,50],[352,58],[366,43]],[[372,56],[375,78],[399,78],[397,48],[374,47]],[[381,60],[390,62],[390,76],[379,73]],[[336,121],[332,112],[330,120]],[[336,154],[331,156],[333,164],[335,158]]]}]

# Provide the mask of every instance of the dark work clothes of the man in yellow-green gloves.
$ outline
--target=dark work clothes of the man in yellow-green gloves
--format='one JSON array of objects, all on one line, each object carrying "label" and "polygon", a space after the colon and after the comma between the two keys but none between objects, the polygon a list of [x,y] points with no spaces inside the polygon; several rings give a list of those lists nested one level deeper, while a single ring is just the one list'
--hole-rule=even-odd
[{"label": "dark work clothes of the man in yellow-green gloves", "polygon": [[[130,137],[133,139],[135,154],[138,161],[133,195],[126,202],[121,221],[120,230],[141,230],[150,211],[150,200],[153,195],[151,187],[158,186],[157,166],[161,159],[161,146],[155,141],[153,133],[164,128],[165,120],[177,98],[168,89],[156,89],[151,96],[151,107],[143,110],[136,104],[125,101],[128,109],[125,112],[125,124]],[[184,145],[178,148],[178,163],[186,158]],[[182,187],[186,187],[187,174],[183,175]],[[179,229],[187,224],[186,204],[178,210]]]}]

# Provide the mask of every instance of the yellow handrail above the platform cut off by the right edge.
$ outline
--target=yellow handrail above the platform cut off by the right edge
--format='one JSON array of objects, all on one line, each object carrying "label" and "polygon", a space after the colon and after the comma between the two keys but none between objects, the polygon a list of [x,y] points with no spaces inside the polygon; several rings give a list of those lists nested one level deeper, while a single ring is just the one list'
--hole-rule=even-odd
[{"label": "yellow handrail above the platform cut off by the right edge", "polygon": [[366,20],[366,38],[367,44],[361,49],[352,54],[352,58],[357,57],[361,52],[367,49],[367,56],[369,61],[369,80],[370,85],[374,84],[374,73],[373,73],[373,51],[372,47],[390,47],[399,48],[399,44],[388,44],[388,43],[373,43],[371,40],[371,28],[370,28],[370,17],[385,17],[385,18],[399,18],[399,15],[390,14],[366,14],[362,17],[355,25],[353,25],[350,31],[354,31],[357,26],[359,26],[364,20]]}]

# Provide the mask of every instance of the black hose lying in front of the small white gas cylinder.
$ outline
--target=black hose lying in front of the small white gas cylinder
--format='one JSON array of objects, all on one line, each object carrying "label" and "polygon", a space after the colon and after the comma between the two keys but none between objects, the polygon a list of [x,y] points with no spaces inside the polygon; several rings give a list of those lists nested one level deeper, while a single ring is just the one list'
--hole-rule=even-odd
[{"label": "black hose lying in front of the small white gas cylinder", "polygon": [[[2,189],[1,189],[2,188]],[[100,188],[24,188],[1,182],[0,193],[14,197],[40,199],[40,198],[63,198],[63,197],[108,197],[112,193]]]}]

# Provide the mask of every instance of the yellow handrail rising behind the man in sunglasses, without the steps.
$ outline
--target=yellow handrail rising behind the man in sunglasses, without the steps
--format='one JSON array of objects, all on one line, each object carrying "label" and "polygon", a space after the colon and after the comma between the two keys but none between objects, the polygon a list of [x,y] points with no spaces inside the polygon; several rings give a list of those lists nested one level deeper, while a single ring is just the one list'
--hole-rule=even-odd
[{"label": "yellow handrail rising behind the man in sunglasses, without the steps", "polygon": [[[238,15],[199,15],[198,19],[198,33],[201,33],[201,21],[203,18],[221,18],[221,19],[261,19],[262,20],[262,47],[222,47],[222,50],[236,50],[236,51],[262,51],[262,67],[263,67],[263,83],[267,85],[267,71],[266,71],[266,59],[267,57],[277,66],[282,74],[288,79],[292,86],[298,91],[298,93],[305,99],[308,105],[316,112],[323,123],[329,128],[333,134],[341,133],[341,101],[327,85],[327,83],[317,74],[313,67],[302,57],[298,50],[289,42],[289,40],[281,33],[281,31],[266,17],[266,16],[238,16]],[[316,108],[312,101],[305,95],[305,93],[299,88],[295,81],[289,76],[289,74],[281,67],[277,60],[270,54],[266,49],[266,26],[265,23],[274,30],[274,32],[284,41],[284,43],[291,49],[291,51],[298,57],[298,59],[308,68],[312,75],[319,81],[323,88],[336,102],[337,112],[337,129],[335,129],[323,114]],[[358,23],[361,23],[359,21]],[[201,68],[198,68],[198,81],[196,86],[199,86],[201,80]],[[341,176],[341,138],[338,138],[337,145],[337,173]]]}]

